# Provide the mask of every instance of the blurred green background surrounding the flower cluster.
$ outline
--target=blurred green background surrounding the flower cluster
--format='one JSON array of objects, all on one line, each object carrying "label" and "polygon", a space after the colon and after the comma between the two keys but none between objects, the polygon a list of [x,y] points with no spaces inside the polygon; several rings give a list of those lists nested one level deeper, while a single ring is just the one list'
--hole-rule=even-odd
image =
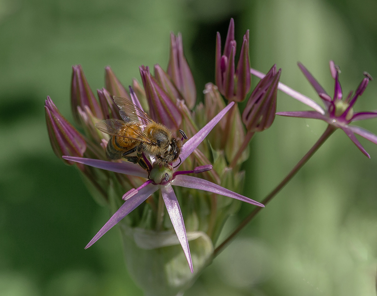
[{"label": "blurred green background surrounding the flower cluster", "polygon": [[[377,78],[376,14],[375,0],[0,0],[0,295],[141,295],[116,228],[84,250],[108,213],[49,144],[44,99],[72,120],[72,65],[83,66],[93,90],[107,65],[127,86],[139,65],[166,68],[169,32],[180,31],[202,98],[214,82],[216,31],[224,42],[234,17],[239,45],[250,29],[251,66],[277,63],[281,82],[318,102],[296,62],[329,94],[329,59],[344,93],[363,71]],[[377,109],[376,98],[374,81],[355,109]],[[308,109],[282,93],[277,108]],[[377,133],[376,120],[358,125]],[[276,118],[252,141],[244,194],[262,200],[325,126]],[[377,147],[361,143],[370,160],[337,131],[185,296],[375,295]],[[242,205],[224,235],[250,211]]]}]

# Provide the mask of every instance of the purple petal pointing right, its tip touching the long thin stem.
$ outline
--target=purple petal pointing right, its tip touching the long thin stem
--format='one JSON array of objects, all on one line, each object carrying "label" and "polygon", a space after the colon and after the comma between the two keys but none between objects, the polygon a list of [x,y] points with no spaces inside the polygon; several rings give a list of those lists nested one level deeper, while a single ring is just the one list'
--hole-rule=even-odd
[{"label": "purple petal pointing right, its tip touching the long thin stem", "polygon": [[187,176],[187,175],[178,175],[170,183],[175,186],[205,190],[212,193],[221,194],[224,196],[241,200],[243,202],[247,202],[248,204],[252,204],[252,205],[256,205],[258,207],[264,208],[264,205],[262,205],[259,202],[256,202],[255,200],[252,200],[246,196],[243,196],[241,194],[228,190],[227,188],[221,187],[220,185],[217,185],[215,183],[212,183],[210,181],[200,179],[197,177],[192,177],[192,176]]}]

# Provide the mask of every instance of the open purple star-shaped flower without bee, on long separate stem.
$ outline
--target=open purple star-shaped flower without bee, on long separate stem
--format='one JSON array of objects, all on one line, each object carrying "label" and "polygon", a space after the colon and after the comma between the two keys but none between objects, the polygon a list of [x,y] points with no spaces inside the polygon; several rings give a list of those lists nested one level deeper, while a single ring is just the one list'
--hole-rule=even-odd
[{"label": "open purple star-shaped flower without bee, on long separate stem", "polygon": [[[312,119],[321,119],[327,122],[329,125],[334,126],[334,128],[341,128],[349,139],[355,143],[357,148],[359,148],[362,153],[370,158],[369,154],[365,151],[364,147],[360,144],[359,140],[356,139],[355,133],[364,137],[365,139],[371,141],[372,143],[377,144],[377,136],[371,132],[364,130],[360,126],[349,125],[349,123],[357,120],[369,119],[377,117],[377,111],[370,112],[358,112],[354,113],[353,106],[356,103],[356,100],[359,96],[363,94],[366,86],[368,85],[369,80],[372,80],[372,77],[364,72],[365,78],[360,83],[359,87],[356,89],[353,94],[352,91],[348,93],[348,96],[343,99],[342,87],[339,83],[339,67],[330,61],[330,71],[331,76],[335,80],[334,86],[334,96],[331,98],[318,81],[311,75],[305,66],[301,63],[298,63],[299,68],[309,80],[310,84],[318,93],[319,97],[322,99],[322,102],[325,105],[325,109],[319,106],[312,99],[303,96],[302,94],[294,91],[293,89],[288,88],[282,83],[279,83],[279,89],[293,97],[294,99],[303,102],[304,104],[312,107],[316,111],[292,111],[292,112],[277,112],[277,115],[290,116],[290,117],[302,117],[302,118],[312,118]],[[260,77],[260,72],[252,69],[252,74]],[[353,96],[352,96],[353,94]]]}]

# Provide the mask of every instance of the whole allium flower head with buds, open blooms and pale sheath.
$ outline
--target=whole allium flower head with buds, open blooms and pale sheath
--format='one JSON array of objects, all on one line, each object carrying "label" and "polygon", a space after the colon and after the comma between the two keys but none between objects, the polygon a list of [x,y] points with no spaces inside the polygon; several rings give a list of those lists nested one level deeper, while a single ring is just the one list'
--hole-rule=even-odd
[{"label": "whole allium flower head with buds, open blooms and pale sheath", "polygon": [[[248,31],[236,66],[231,19],[223,52],[219,33],[216,38],[216,85],[207,83],[203,102],[198,103],[182,36],[170,37],[166,71],[156,64],[152,75],[148,66],[140,66],[142,85],[133,79],[129,91],[106,67],[106,87],[97,89],[97,98],[81,66],[73,66],[71,106],[76,127],[61,115],[50,97],[45,103],[54,153],[78,168],[94,199],[111,214],[86,248],[118,224],[127,268],[144,292],[153,295],[175,295],[189,287],[210,263],[222,227],[239,210],[241,201],[259,207],[259,211],[290,179],[286,178],[262,203],[240,194],[245,179],[241,165],[248,158],[248,143],[256,132],[273,123],[278,89],[316,111],[277,114],[325,120],[331,126],[326,137],[342,128],[365,154],[353,133],[377,143],[375,135],[348,125],[377,116],[376,112],[352,111],[370,76],[366,75],[354,97],[350,93],[342,100],[339,71],[331,62],[336,80],[331,99],[299,64],[325,102],[324,110],[280,83],[281,69],[276,65],[266,75],[250,67]],[[252,91],[251,74],[261,78]],[[241,113],[238,102],[245,99]],[[151,126],[161,125],[170,142],[156,150],[161,139],[153,136]],[[169,160],[173,150],[175,157]],[[119,157],[112,157],[114,151]],[[297,170],[308,157],[296,166]]]}]

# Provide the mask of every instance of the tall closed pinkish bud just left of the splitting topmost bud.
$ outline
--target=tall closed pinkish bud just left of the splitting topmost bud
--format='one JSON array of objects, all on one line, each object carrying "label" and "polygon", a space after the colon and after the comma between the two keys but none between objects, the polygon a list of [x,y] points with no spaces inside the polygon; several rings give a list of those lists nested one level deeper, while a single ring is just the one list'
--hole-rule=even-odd
[{"label": "tall closed pinkish bud just left of the splitting topmost bud", "polygon": [[167,73],[181,92],[186,105],[192,109],[196,102],[196,87],[189,64],[183,54],[181,33],[178,33],[178,36],[170,33],[170,59]]}]

